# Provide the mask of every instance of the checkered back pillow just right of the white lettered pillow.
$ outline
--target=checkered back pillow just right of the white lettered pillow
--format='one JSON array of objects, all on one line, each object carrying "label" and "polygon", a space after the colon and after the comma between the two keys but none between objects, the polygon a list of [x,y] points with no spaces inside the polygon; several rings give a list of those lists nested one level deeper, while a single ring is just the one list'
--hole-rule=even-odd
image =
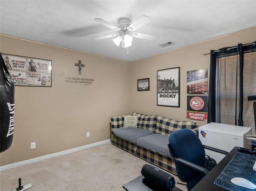
[{"label": "checkered back pillow just right of the white lettered pillow", "polygon": [[156,130],[156,115],[144,115],[133,112],[132,115],[138,116],[138,128],[146,129],[155,132]]}]

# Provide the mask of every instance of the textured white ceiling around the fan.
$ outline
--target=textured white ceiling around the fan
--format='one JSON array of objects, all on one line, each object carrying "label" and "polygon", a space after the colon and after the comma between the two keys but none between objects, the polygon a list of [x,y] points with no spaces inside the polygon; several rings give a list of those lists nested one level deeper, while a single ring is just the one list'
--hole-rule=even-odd
[{"label": "textured white ceiling around the fan", "polygon": [[[156,40],[134,38],[132,46],[116,46],[117,33],[94,21],[114,26],[140,16],[152,20],[136,32],[158,35]],[[0,0],[0,33],[41,43],[135,61],[221,35],[256,26],[256,0]],[[169,47],[162,43],[173,41]],[[234,42],[237,43],[237,42]],[[209,50],[206,50],[206,52]]]}]

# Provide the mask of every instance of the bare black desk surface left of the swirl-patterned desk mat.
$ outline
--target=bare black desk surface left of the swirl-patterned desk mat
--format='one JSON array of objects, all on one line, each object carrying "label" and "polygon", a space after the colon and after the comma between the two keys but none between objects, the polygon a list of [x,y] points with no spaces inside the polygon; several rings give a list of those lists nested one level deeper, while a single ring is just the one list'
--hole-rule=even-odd
[{"label": "bare black desk surface left of the swirl-patterned desk mat", "polygon": [[226,189],[214,184],[223,169],[235,156],[237,147],[234,147],[191,191],[227,191]]}]

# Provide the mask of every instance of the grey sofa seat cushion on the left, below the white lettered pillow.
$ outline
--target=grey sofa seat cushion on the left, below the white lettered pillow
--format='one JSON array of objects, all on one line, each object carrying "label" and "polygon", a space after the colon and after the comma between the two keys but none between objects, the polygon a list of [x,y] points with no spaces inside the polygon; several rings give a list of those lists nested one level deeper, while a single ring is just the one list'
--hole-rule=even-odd
[{"label": "grey sofa seat cushion on the left, below the white lettered pillow", "polygon": [[154,132],[145,130],[142,128],[128,127],[128,128],[117,128],[114,130],[115,136],[123,140],[129,141],[133,144],[137,143],[138,138],[148,136],[151,134],[154,134]]}]

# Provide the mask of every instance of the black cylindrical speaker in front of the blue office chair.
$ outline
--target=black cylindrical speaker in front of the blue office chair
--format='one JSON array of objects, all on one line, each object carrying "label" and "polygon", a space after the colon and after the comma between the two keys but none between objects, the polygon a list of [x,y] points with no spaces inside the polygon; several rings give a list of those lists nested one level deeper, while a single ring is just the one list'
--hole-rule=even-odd
[{"label": "black cylindrical speaker in front of the blue office chair", "polygon": [[143,183],[153,190],[171,191],[175,187],[172,175],[148,164],[144,164],[141,174],[145,177]]}]

